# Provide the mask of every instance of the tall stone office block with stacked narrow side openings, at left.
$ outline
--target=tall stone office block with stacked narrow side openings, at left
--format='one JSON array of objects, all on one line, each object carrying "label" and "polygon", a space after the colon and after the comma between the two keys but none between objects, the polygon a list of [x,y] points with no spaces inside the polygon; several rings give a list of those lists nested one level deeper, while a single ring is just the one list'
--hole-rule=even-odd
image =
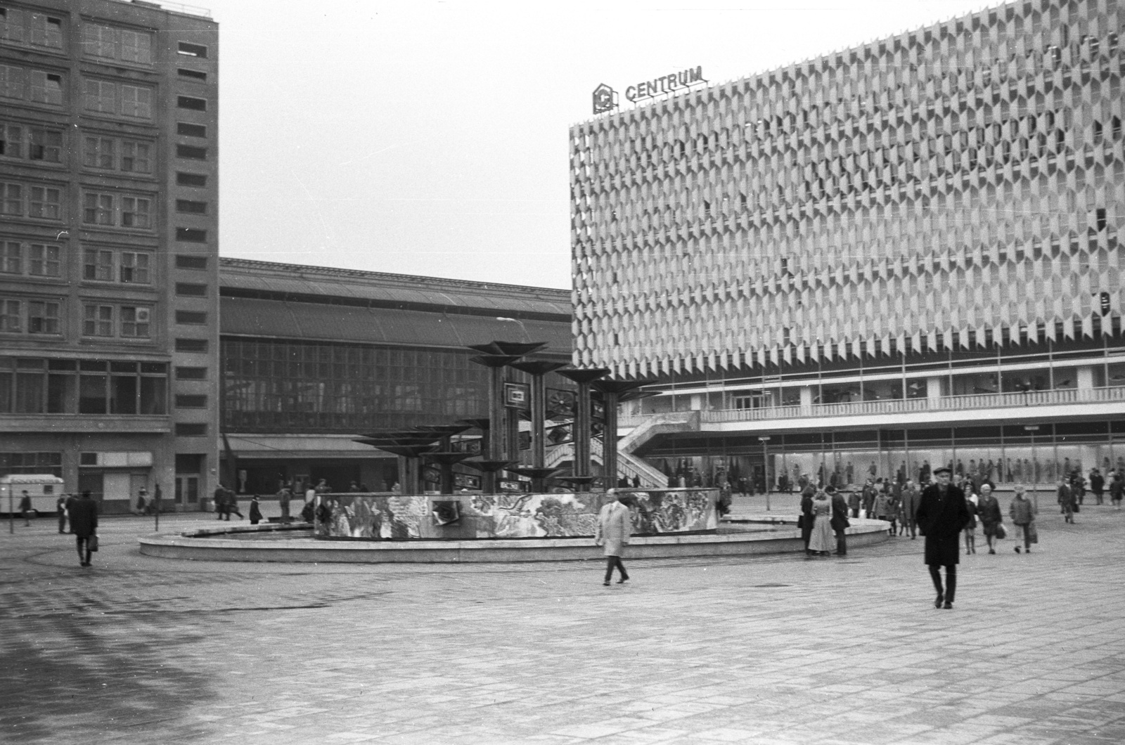
[{"label": "tall stone office block with stacked narrow side openings, at left", "polygon": [[217,468],[218,26],[0,1],[0,474],[106,511]]}]

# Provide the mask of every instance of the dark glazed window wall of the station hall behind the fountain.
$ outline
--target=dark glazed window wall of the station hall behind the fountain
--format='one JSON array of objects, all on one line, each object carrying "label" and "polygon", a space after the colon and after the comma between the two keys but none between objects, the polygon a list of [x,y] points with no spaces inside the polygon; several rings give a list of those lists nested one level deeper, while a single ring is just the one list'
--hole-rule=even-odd
[{"label": "dark glazed window wall of the station hall behind the fountain", "polygon": [[235,432],[339,432],[486,416],[468,350],[224,339],[223,419]]}]

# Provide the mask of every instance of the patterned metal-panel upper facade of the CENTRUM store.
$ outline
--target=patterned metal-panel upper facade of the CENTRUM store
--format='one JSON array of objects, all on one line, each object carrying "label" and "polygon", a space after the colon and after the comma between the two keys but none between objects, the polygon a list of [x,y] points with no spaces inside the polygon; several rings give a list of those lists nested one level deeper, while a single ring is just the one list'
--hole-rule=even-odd
[{"label": "patterned metal-panel upper facade of the CENTRUM store", "polygon": [[644,376],[1119,323],[1123,25],[1117,0],[1010,3],[573,127],[575,361]]}]

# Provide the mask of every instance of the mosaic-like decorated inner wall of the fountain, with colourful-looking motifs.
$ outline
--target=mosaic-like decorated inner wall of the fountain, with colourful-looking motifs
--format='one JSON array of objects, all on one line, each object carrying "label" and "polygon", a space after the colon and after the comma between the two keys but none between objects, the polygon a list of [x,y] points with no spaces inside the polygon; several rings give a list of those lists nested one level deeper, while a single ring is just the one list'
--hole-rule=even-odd
[{"label": "mosaic-like decorated inner wall of the fountain, with colourful-looking motifs", "polygon": [[[714,531],[718,490],[621,490],[634,536]],[[605,492],[560,494],[322,494],[313,535],[322,540],[592,538]]]}]

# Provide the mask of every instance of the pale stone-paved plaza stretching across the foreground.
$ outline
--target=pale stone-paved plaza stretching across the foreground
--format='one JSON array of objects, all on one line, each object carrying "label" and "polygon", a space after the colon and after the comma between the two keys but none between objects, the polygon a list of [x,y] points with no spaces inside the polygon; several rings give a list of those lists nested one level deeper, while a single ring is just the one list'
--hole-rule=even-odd
[{"label": "pale stone-paved plaza stretching across the foreground", "polygon": [[0,524],[0,742],[1125,742],[1109,506],[1068,526],[1044,502],[1032,555],[962,558],[952,611],[920,539],[627,559],[603,587],[592,562],[159,559],[137,551],[151,526],[104,519],[83,569],[53,520]]}]

